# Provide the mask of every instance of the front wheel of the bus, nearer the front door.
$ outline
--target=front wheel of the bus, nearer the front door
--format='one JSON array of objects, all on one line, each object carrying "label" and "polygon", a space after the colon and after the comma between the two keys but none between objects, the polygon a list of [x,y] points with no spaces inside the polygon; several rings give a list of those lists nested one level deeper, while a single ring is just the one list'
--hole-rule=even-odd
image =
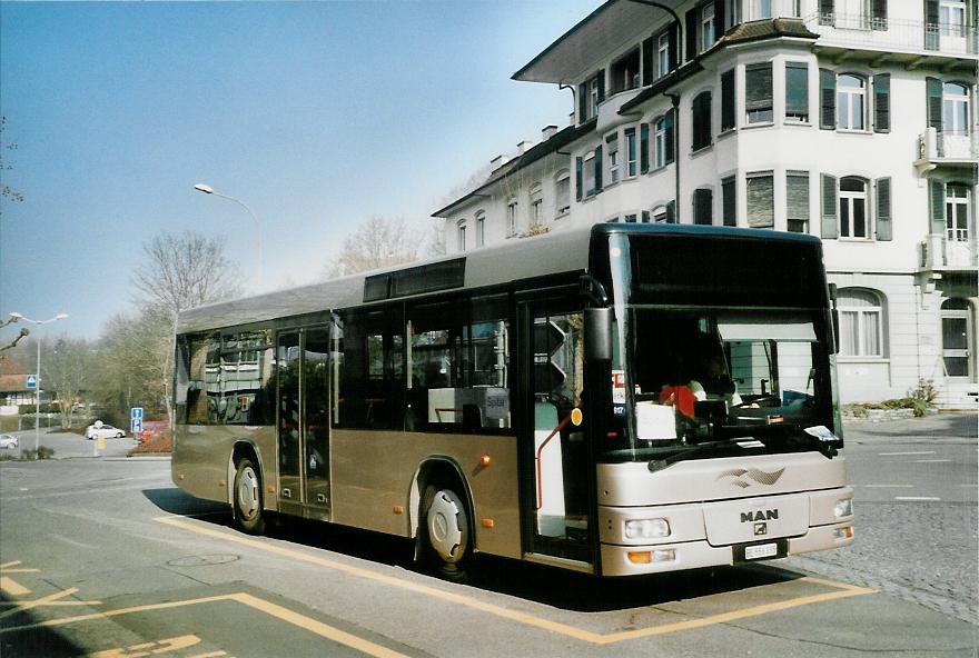
[{"label": "front wheel of the bus, nearer the front door", "polygon": [[465,501],[449,488],[429,486],[422,504],[423,549],[429,562],[446,580],[466,580],[472,532]]}]

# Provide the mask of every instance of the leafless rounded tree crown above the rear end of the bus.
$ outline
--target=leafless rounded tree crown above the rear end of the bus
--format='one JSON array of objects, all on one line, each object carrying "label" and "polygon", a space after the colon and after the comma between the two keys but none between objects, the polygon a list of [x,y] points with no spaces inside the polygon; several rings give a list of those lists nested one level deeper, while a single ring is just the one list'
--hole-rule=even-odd
[{"label": "leafless rounded tree crown above the rear end of the bus", "polygon": [[146,261],[136,268],[132,283],[146,303],[172,318],[184,309],[240,293],[217,238],[162,231],[142,243],[142,252]]}]

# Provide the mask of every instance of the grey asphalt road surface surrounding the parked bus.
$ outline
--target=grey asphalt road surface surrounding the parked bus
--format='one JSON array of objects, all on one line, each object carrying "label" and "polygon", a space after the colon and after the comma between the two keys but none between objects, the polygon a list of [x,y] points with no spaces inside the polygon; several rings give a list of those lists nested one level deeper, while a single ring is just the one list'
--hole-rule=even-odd
[{"label": "grey asphalt road surface surrounding the parked bus", "polygon": [[976,656],[976,440],[932,422],[848,432],[852,549],[604,585],[494,559],[452,585],[403,540],[301,521],[248,537],[164,460],[3,462],[0,655]]}]

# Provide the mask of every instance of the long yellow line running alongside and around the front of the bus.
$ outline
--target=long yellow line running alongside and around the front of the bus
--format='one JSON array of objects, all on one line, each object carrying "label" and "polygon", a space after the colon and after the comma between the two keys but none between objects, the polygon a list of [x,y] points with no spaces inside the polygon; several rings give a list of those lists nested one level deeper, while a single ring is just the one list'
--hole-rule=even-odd
[{"label": "long yellow line running alongside and around the front of the bus", "polygon": [[[730,612],[722,612],[720,615],[712,615],[710,617],[702,617],[699,619],[690,619],[688,621],[678,621],[675,624],[666,624],[666,625],[653,626],[653,627],[644,628],[644,629],[636,629],[636,630],[629,630],[629,631],[603,635],[603,634],[599,634],[599,632],[592,632],[592,631],[585,630],[583,628],[570,626],[566,624],[560,624],[556,621],[543,619],[543,618],[536,617],[534,615],[518,612],[516,610],[510,610],[510,609],[506,609],[506,608],[503,608],[503,607],[500,607],[500,606],[496,606],[493,604],[487,604],[487,602],[479,601],[477,599],[473,599],[473,598],[469,598],[466,596],[453,594],[449,591],[444,591],[444,590],[428,587],[425,585],[419,585],[417,582],[412,582],[409,580],[395,578],[393,576],[385,576],[384,574],[377,574],[375,571],[362,569],[359,567],[354,567],[350,565],[337,562],[335,560],[329,560],[326,558],[320,558],[318,556],[308,555],[308,554],[305,554],[305,552],[301,552],[301,551],[298,551],[295,549],[277,546],[275,544],[268,544],[266,541],[259,541],[257,539],[250,539],[248,537],[240,537],[237,535],[230,535],[228,532],[221,532],[219,530],[215,530],[215,529],[208,528],[208,527],[197,526],[197,525],[190,524],[179,517],[157,517],[155,520],[159,521],[160,524],[181,528],[184,530],[189,530],[191,532],[197,532],[198,535],[206,535],[206,536],[216,537],[218,539],[222,539],[226,541],[234,541],[236,544],[241,544],[244,546],[250,546],[253,548],[257,548],[257,549],[264,550],[266,552],[273,552],[273,554],[280,555],[284,557],[289,557],[289,558],[293,558],[296,560],[300,560],[304,562],[309,562],[313,565],[318,565],[322,567],[335,569],[337,571],[342,571],[344,574],[349,574],[352,576],[357,576],[359,578],[366,578],[368,580],[374,580],[376,582],[383,582],[385,585],[390,585],[393,587],[398,587],[398,588],[406,589],[409,591],[424,594],[426,596],[431,596],[431,597],[446,600],[446,601],[449,601],[453,604],[465,606],[467,608],[481,610],[483,612],[488,612],[491,615],[494,615],[496,617],[501,617],[503,619],[518,621],[518,622],[527,625],[527,626],[533,626],[533,627],[541,628],[544,630],[550,630],[552,632],[557,632],[561,635],[565,635],[567,637],[572,637],[572,638],[580,639],[580,640],[595,644],[595,645],[609,645],[609,644],[613,644],[613,642],[621,642],[623,640],[636,639],[636,638],[641,638],[641,637],[664,635],[664,634],[669,634],[669,632],[676,632],[680,630],[702,628],[704,626],[714,626],[718,624],[726,624],[730,621],[735,621],[735,620],[744,619],[748,617],[755,617],[759,615],[768,615],[770,612],[777,612],[779,610],[788,610],[791,608],[797,608],[799,606],[809,606],[812,604],[819,604],[819,602],[831,601],[831,600],[835,600],[835,599],[843,599],[843,598],[848,598],[848,597],[862,596],[862,595],[877,592],[876,589],[870,589],[870,588],[866,588],[866,587],[857,587],[853,585],[847,585],[844,582],[835,582],[832,580],[823,580],[823,579],[819,579],[819,578],[801,578],[800,580],[802,580],[802,581],[808,581],[808,582],[821,585],[824,587],[831,587],[831,588],[835,589],[835,591],[789,599],[789,600],[777,602],[777,604],[767,604],[767,605],[762,605],[762,606],[753,606],[751,608],[741,608],[738,610],[732,610]],[[2,632],[2,631],[0,631],[0,632]]]}]

